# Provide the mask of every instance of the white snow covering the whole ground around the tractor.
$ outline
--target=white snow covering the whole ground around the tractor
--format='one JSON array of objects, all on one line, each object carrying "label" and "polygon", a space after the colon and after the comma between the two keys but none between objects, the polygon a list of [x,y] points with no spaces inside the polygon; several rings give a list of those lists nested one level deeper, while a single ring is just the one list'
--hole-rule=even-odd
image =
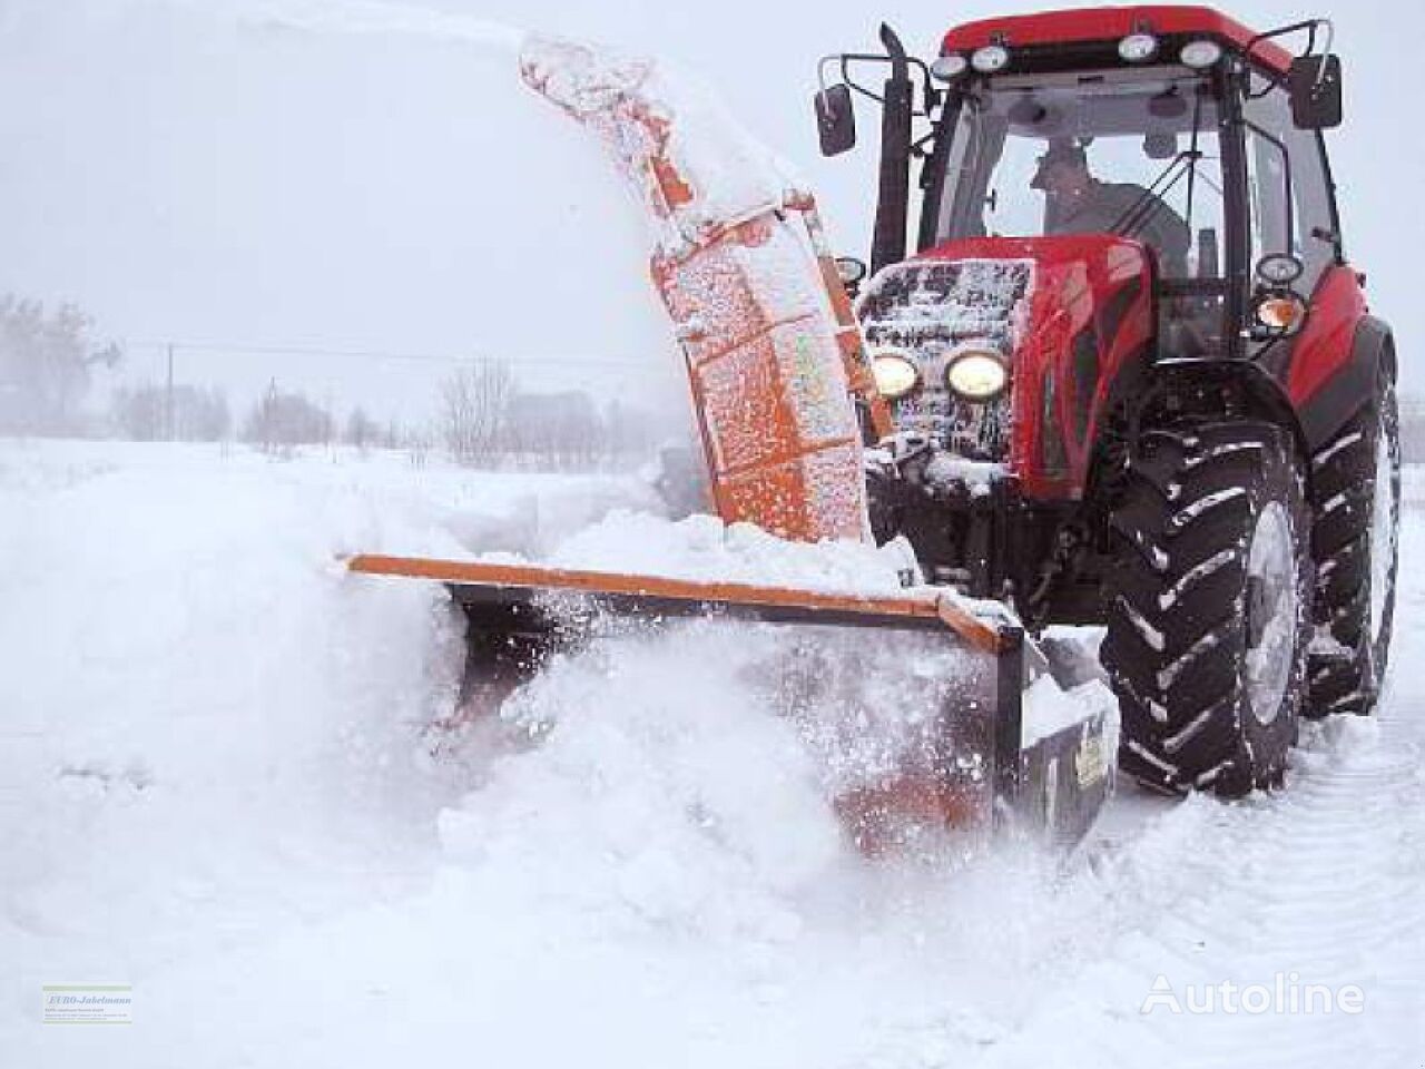
[{"label": "white snow covering the whole ground around the tractor", "polygon": [[[715,627],[563,664],[526,697],[537,747],[430,758],[459,621],[336,554],[579,559],[648,506],[633,479],[0,443],[0,1065],[1419,1065],[1425,472],[1378,720],[1310,727],[1282,795],[1124,790],[1072,857],[969,871],[849,851]],[[131,983],[134,1025],[41,1025],[63,981]],[[1364,1009],[1143,1013],[1156,981]]]}]

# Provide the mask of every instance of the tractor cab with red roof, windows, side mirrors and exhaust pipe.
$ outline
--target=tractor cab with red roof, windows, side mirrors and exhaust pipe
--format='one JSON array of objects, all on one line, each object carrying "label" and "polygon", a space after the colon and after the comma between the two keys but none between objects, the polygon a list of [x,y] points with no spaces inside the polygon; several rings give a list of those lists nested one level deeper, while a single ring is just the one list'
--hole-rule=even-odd
[{"label": "tractor cab with red roof, windows, side mirrors and exhaust pipe", "polygon": [[[906,254],[918,158],[921,254],[1139,242],[1161,351],[1255,355],[1295,334],[1341,254],[1320,137],[1341,121],[1328,34],[1324,20],[1254,34],[1203,7],[1096,9],[969,23],[926,64],[884,29],[884,56],[822,60],[822,148],[855,143],[854,93],[882,101],[874,269]],[[1278,43],[1294,36],[1300,57]],[[865,64],[889,67],[879,91],[854,80]],[[825,80],[832,66],[842,81]]]}]

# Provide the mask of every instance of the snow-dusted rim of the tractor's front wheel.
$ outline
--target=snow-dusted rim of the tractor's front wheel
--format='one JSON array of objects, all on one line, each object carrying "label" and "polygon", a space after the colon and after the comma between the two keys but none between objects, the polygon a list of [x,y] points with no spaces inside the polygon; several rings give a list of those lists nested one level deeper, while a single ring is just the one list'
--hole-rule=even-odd
[{"label": "snow-dusted rim of the tractor's front wheel", "polygon": [[1300,599],[1291,516],[1281,502],[1257,516],[1247,550],[1247,700],[1253,716],[1270,724],[1281,713],[1291,680]]}]

